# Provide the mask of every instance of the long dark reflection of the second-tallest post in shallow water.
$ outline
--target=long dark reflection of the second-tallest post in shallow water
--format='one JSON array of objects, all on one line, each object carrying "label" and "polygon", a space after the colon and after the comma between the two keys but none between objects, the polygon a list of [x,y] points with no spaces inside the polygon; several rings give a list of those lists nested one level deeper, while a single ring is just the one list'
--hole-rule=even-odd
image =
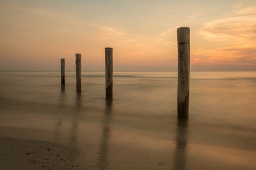
[{"label": "long dark reflection of the second-tallest post in shallow water", "polygon": [[112,100],[106,101],[106,111],[105,118],[103,121],[103,131],[102,131],[102,139],[100,143],[100,157],[97,160],[97,165],[99,169],[108,169],[108,154],[109,154],[109,137],[110,137],[110,127],[109,121],[111,120],[111,110],[112,110]]}]

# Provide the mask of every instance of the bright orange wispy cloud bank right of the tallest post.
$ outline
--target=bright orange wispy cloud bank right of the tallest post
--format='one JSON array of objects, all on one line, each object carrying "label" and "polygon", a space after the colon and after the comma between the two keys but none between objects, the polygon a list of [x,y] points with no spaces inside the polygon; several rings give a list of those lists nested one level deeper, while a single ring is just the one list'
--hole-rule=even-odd
[{"label": "bright orange wispy cloud bank right of the tallest post", "polygon": [[241,8],[241,5],[236,5],[236,8],[239,10],[236,10],[234,17],[206,22],[200,29],[204,38],[211,41],[228,41],[228,44],[211,50],[192,50],[192,63],[256,66],[256,7]]}]

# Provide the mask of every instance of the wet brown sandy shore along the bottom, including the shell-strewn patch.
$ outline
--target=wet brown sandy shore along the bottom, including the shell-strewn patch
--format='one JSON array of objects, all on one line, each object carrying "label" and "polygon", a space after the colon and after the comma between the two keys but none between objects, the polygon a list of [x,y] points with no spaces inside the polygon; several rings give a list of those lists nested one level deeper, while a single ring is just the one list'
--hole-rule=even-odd
[{"label": "wet brown sandy shore along the bottom, including the shell-strewn patch", "polygon": [[[174,141],[172,145],[165,147],[159,141],[147,142],[139,136],[133,136],[134,139],[125,138],[127,143],[123,142],[119,145],[106,146],[108,142],[105,141],[100,145],[88,142],[83,146],[67,146],[65,142],[60,144],[60,141],[50,139],[51,132],[13,127],[0,127],[0,130],[2,132],[0,166],[4,170],[254,169],[256,167],[255,153],[227,147],[186,145],[182,142],[177,146]],[[10,138],[14,134],[19,138]],[[42,138],[47,140],[40,140]]]}]

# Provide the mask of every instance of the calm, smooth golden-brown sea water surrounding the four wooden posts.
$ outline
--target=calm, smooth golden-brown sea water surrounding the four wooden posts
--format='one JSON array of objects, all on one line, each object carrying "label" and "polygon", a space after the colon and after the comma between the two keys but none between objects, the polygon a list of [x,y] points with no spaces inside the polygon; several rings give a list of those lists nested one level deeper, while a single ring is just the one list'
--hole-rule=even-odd
[{"label": "calm, smooth golden-brown sea water surrounding the four wooden posts", "polygon": [[[74,72],[66,73],[65,89],[58,72],[1,72],[0,126],[51,131],[59,143],[82,148],[90,140],[84,136],[91,136],[98,150],[119,149],[127,155],[129,151],[121,148],[134,136],[134,143],[143,143],[138,150],[153,148],[173,159],[169,164],[163,155],[155,155],[163,159],[166,169],[256,167],[240,159],[247,152],[256,155],[256,72],[192,72],[189,120],[181,123],[177,122],[177,73],[113,75],[113,103],[108,104],[104,73],[83,72],[82,93],[77,94]],[[230,150],[236,151],[237,158],[230,156],[234,156]],[[214,155],[224,157],[220,167],[211,162],[217,160]],[[208,157],[211,166],[196,167],[201,157]]]}]

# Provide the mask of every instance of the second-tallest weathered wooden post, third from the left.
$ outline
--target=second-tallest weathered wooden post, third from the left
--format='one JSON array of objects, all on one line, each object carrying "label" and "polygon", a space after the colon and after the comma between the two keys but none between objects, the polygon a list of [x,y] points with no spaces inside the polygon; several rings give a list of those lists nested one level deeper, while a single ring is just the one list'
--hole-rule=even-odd
[{"label": "second-tallest weathered wooden post, third from the left", "polygon": [[113,48],[105,48],[106,100],[113,99]]}]

